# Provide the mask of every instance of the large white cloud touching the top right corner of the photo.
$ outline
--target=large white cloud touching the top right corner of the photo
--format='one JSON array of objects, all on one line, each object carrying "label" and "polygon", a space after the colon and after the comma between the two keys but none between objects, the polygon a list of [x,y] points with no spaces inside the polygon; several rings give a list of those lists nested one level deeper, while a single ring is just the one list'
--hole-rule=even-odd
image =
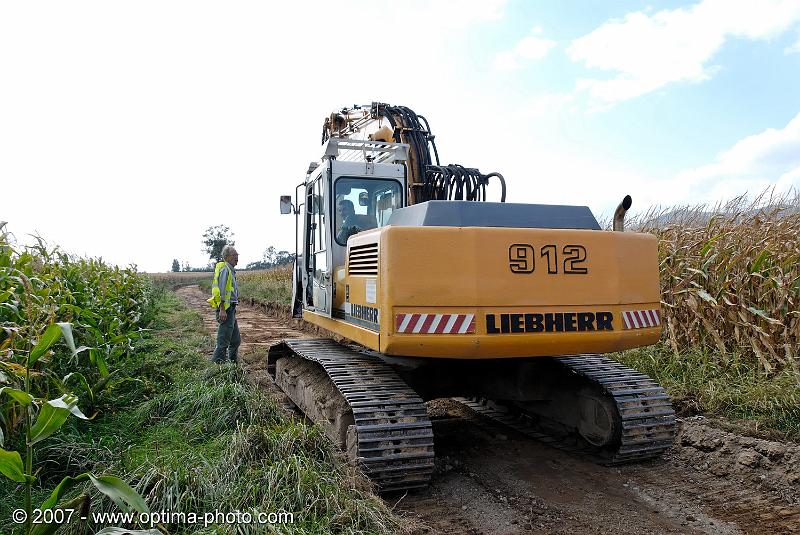
[{"label": "large white cloud touching the top right corner of the photo", "polygon": [[598,105],[609,105],[674,82],[710,78],[714,55],[731,38],[771,39],[800,21],[797,0],[704,0],[690,8],[629,13],[572,42],[569,57],[616,73],[580,80]]}]

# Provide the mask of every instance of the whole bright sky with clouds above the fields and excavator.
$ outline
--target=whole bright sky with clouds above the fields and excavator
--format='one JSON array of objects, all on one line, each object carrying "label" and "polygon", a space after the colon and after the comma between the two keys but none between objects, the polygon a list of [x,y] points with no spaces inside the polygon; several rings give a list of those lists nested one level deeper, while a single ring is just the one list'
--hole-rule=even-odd
[{"label": "whole bright sky with clouds above the fields and excavator", "polygon": [[294,250],[279,197],[324,117],[373,101],[510,202],[789,191],[800,0],[2,2],[0,221],[152,272],[205,265],[217,224],[241,266]]}]

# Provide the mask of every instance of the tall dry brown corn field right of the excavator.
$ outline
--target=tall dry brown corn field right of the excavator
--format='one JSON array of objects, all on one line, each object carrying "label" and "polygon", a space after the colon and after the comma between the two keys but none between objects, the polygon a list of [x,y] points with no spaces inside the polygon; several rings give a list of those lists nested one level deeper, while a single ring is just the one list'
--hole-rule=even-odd
[{"label": "tall dry brown corn field right of the excavator", "polygon": [[664,337],[676,353],[800,371],[800,197],[651,211],[633,226],[659,239]]}]

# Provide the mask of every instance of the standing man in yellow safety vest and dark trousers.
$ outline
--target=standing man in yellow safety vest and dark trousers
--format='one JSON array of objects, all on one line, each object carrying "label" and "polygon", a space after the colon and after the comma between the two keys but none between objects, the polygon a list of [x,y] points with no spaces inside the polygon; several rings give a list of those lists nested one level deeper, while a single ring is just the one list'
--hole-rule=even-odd
[{"label": "standing man in yellow safety vest and dark trousers", "polygon": [[242,338],[239,323],[236,321],[236,303],[239,302],[239,286],[233,268],[239,263],[239,253],[231,245],[222,248],[222,262],[214,268],[214,281],[211,283],[211,299],[208,303],[217,316],[217,347],[211,360],[222,362],[225,353],[231,362],[236,363],[237,351]]}]

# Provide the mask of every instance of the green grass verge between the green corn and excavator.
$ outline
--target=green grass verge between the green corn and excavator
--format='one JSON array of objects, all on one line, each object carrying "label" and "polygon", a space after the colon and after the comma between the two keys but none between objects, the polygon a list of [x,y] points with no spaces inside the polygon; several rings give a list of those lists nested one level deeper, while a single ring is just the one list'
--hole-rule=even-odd
[{"label": "green grass verge between the green corn and excavator", "polygon": [[[171,292],[157,293],[153,330],[124,370],[132,380],[98,407],[94,422],[73,419],[37,450],[42,469],[34,503],[64,475],[89,470],[126,480],[152,511],[294,515],[284,525],[166,526],[172,534],[405,530],[319,428],[287,418],[234,366],[210,363],[211,339],[199,314]],[[78,492],[84,491],[91,492]],[[92,497],[92,511],[115,510],[102,495]],[[19,533],[8,521],[22,507],[21,487],[3,478],[0,501],[0,532]],[[59,533],[94,533],[85,527]]]}]

